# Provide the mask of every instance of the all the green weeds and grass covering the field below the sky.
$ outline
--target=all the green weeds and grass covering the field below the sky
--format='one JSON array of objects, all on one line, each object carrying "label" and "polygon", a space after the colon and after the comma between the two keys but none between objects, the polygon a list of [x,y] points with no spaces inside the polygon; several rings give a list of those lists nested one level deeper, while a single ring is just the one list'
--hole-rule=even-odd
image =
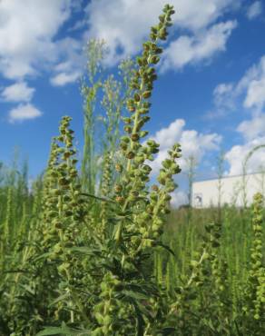
[{"label": "all the green weeds and grass covering the field below the sky", "polygon": [[265,334],[262,195],[171,212],[177,143],[150,183],[159,144],[143,127],[173,14],[165,5],[121,79],[103,78],[103,43],[88,44],[80,171],[68,116],[30,190],[26,165],[0,166],[1,335]]}]

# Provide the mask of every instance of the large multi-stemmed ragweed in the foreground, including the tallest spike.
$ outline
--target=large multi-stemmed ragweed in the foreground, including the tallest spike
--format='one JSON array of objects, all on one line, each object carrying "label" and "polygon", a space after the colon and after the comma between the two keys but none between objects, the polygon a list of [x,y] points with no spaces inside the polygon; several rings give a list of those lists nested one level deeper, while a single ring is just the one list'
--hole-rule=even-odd
[{"label": "large multi-stemmed ragweed in the foreground, including the tallest spike", "polygon": [[[159,145],[152,140],[142,144],[141,140],[148,133],[143,131],[142,127],[149,119],[149,98],[153,81],[156,79],[153,64],[159,62],[159,54],[162,53],[158,41],[166,39],[172,14],[172,6],[166,5],[159,25],[152,27],[151,41],[143,44],[144,51],[137,59],[138,67],[133,71],[130,84],[129,92],[132,92],[132,98],[127,100],[127,107],[131,113],[132,104],[135,108],[132,116],[124,118],[124,131],[128,135],[121,138],[122,156],[120,163],[116,164],[117,183],[112,191],[108,190],[110,168],[109,164],[105,164],[104,197],[97,198],[92,193],[81,193],[87,195],[88,200],[93,196],[93,205],[96,205],[94,202],[109,203],[104,203],[107,207],[99,218],[94,215],[97,205],[89,208],[86,204],[88,215],[82,221],[87,230],[76,232],[77,241],[74,235],[78,225],[75,224],[77,219],[74,218],[73,209],[78,209],[78,204],[73,203],[73,192],[74,195],[78,193],[78,196],[80,190],[77,184],[72,186],[77,172],[73,170],[71,162],[74,152],[70,147],[73,139],[68,139],[67,118],[60,126],[60,137],[55,139],[56,155],[51,174],[57,187],[53,186],[51,191],[55,193],[53,209],[47,212],[53,217],[49,219],[54,223],[58,236],[58,242],[52,248],[52,252],[55,253],[54,263],[57,267],[60,293],[59,298],[55,300],[55,306],[59,305],[55,315],[69,326],[79,325],[90,330],[93,335],[113,335],[113,332],[143,335],[144,332],[147,334],[157,328],[155,322],[160,311],[160,291],[152,281],[152,272],[145,270],[145,267],[147,262],[152,260],[155,246],[160,245],[159,237],[162,234],[165,216],[169,212],[169,193],[175,188],[172,176],[180,171],[175,163],[180,157],[180,148],[175,145],[169,151],[169,159],[163,163],[160,174],[161,187],[153,187],[150,193],[148,182],[152,169],[147,161],[152,160],[154,153],[158,153]],[[107,84],[105,93],[111,94]],[[103,104],[111,112],[113,104],[110,103],[110,97],[106,96]],[[116,115],[115,112],[114,116]],[[112,127],[112,124],[108,125]],[[57,144],[58,140],[65,143],[65,148]],[[115,140],[112,138],[109,143],[112,150]],[[153,196],[154,193],[157,193],[157,197]],[[103,220],[104,224],[98,222],[99,220]],[[67,232],[72,227],[74,231],[70,240],[67,238]],[[89,236],[85,238],[83,233]],[[68,241],[73,247],[68,246]],[[74,259],[76,255],[79,255],[81,263]],[[78,276],[74,273],[75,269],[79,272]],[[82,274],[87,275],[82,277]],[[89,289],[85,289],[80,281],[74,281],[80,278],[85,279]],[[100,286],[97,286],[97,283]],[[90,301],[85,300],[85,292],[90,292]],[[63,329],[61,331],[63,332]]]}]

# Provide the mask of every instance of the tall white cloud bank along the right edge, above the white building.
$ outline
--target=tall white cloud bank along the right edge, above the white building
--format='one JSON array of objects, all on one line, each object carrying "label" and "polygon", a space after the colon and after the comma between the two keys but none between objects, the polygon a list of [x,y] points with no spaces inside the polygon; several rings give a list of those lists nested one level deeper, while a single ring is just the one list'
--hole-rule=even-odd
[{"label": "tall white cloud bank along the right edge, above the white building", "polygon": [[[230,165],[227,173],[240,174],[246,155],[256,146],[265,144],[265,55],[246,71],[239,82],[217,85],[213,101],[215,112],[212,116],[232,110],[250,113],[250,119],[242,121],[236,130],[242,136],[242,144],[232,146],[225,155]],[[251,155],[248,172],[257,172],[264,163],[265,150],[262,147]]]}]

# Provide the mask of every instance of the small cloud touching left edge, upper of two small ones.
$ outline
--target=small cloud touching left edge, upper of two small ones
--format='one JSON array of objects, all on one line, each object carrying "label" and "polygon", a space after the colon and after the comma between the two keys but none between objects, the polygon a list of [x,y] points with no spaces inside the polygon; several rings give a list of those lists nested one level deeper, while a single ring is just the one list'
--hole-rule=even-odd
[{"label": "small cloud touching left edge, upper of two small ones", "polygon": [[1,93],[1,98],[5,102],[30,102],[35,89],[28,87],[25,82],[18,82],[5,87]]}]

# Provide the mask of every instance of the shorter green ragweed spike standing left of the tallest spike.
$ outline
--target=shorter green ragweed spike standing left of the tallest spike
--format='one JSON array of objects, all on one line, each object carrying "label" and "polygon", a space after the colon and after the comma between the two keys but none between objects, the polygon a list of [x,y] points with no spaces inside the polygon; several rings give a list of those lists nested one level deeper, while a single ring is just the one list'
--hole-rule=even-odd
[{"label": "shorter green ragweed spike standing left of the tallest spike", "polygon": [[[77,160],[73,147],[74,131],[69,128],[71,118],[64,117],[60,125],[60,135],[54,139],[49,177],[53,185],[44,198],[52,202],[44,211],[50,224],[48,232],[55,234],[55,243],[49,248],[49,259],[54,260],[59,279],[60,299],[56,300],[55,314],[60,317],[61,311],[64,319],[74,322],[74,310],[80,311],[82,302],[79,293],[74,289],[82,286],[79,274],[82,264],[71,252],[71,248],[83,244],[83,221],[85,210],[78,172],[75,167]],[[82,311],[81,311],[82,313]],[[78,319],[78,313],[77,313]]]}]

